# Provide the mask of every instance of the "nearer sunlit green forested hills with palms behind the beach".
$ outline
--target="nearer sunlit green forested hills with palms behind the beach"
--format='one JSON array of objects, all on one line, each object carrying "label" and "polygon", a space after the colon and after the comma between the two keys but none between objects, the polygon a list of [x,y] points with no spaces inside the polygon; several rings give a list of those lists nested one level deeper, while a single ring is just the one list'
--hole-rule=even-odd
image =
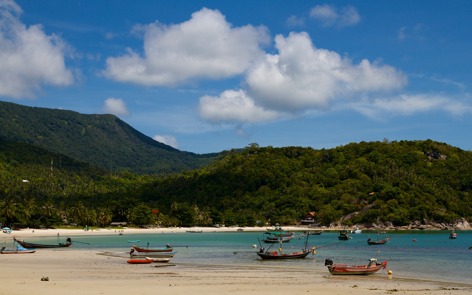
[{"label": "nearer sunlit green forested hills with palms behind the beach", "polygon": [[[254,143],[200,169],[142,176],[110,176],[107,170],[70,159],[69,170],[53,177],[48,161],[57,154],[24,143],[16,148],[19,143],[0,143],[6,146],[0,152],[0,185],[5,188],[0,192],[0,220],[7,223],[32,224],[26,220],[28,202],[35,204],[29,211],[34,212],[34,224],[46,225],[60,220],[42,217],[47,208],[54,208],[51,216],[80,224],[250,225],[268,219],[287,224],[312,211],[319,222],[330,223],[365,208],[362,200],[370,209],[352,223],[380,219],[402,226],[423,218],[472,217],[472,152],[431,140],[361,142],[321,150]],[[29,161],[33,155],[43,155],[45,163]],[[8,217],[5,208],[13,208],[8,207],[11,203],[16,215]]]}]

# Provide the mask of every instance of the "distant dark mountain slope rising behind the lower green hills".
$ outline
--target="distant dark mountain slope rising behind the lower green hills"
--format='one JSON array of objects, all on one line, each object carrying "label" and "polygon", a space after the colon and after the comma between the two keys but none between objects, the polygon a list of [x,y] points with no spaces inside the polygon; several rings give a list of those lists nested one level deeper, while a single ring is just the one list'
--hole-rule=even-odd
[{"label": "distant dark mountain slope rising behind the lower green hills", "polygon": [[115,115],[80,114],[5,101],[0,101],[0,138],[31,143],[101,168],[138,174],[196,169],[219,155],[179,151]]}]

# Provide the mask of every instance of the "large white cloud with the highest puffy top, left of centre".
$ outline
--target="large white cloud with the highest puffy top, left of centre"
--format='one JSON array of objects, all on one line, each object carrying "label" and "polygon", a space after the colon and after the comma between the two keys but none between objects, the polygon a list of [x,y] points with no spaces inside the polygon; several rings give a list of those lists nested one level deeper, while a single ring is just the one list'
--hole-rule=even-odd
[{"label": "large white cloud with the highest puffy top, left of centre", "polygon": [[128,48],[109,57],[103,74],[121,82],[175,86],[195,78],[219,79],[243,73],[270,42],[265,26],[232,27],[219,10],[202,8],[177,25],[155,22],[144,31],[144,56]]}]

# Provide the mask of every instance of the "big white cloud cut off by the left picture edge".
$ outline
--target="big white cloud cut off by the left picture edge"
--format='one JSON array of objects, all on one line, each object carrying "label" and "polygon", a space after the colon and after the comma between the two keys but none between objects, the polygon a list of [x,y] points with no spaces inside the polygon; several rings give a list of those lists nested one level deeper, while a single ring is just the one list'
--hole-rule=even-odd
[{"label": "big white cloud cut off by the left picture edge", "polygon": [[0,0],[0,96],[34,97],[42,84],[72,84],[64,61],[67,43],[46,35],[42,25],[26,28],[18,19],[21,13],[14,1]]}]

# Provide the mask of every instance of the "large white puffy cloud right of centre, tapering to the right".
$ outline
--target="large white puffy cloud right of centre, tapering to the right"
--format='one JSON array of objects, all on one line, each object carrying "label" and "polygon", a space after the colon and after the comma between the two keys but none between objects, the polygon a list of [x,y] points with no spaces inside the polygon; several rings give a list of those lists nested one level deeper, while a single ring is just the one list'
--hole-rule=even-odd
[{"label": "large white puffy cloud right of centre, tapering to the right", "polygon": [[330,101],[359,93],[401,88],[407,78],[395,67],[363,59],[355,65],[337,52],[317,49],[305,32],[275,37],[278,54],[266,54],[247,71],[248,93],[266,109],[328,108]]}]

